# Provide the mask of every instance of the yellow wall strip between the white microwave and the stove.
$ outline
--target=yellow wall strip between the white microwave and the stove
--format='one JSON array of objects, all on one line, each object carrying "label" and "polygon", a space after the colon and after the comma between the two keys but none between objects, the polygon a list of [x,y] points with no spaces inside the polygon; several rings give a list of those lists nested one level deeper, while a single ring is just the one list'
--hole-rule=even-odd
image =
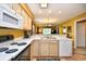
[{"label": "yellow wall strip between the white microwave and the stove", "polygon": [[0,28],[0,36],[3,35],[13,35],[15,39],[19,37],[24,37],[24,31],[20,29]]}]

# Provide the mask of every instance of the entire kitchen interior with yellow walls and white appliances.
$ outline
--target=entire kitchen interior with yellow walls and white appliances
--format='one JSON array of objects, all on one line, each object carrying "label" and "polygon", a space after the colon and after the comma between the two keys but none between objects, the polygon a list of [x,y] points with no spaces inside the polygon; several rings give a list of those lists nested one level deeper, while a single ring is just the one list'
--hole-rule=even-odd
[{"label": "entire kitchen interior with yellow walls and white appliances", "polygon": [[0,3],[0,61],[85,60],[85,3]]}]

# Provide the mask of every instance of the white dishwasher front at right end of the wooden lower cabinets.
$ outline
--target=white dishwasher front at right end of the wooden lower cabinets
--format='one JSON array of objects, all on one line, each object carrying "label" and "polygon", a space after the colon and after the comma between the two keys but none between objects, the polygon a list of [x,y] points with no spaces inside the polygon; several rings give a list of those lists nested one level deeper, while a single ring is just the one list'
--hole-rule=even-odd
[{"label": "white dishwasher front at right end of the wooden lower cabinets", "polygon": [[72,41],[71,40],[60,40],[59,55],[60,56],[72,56]]}]

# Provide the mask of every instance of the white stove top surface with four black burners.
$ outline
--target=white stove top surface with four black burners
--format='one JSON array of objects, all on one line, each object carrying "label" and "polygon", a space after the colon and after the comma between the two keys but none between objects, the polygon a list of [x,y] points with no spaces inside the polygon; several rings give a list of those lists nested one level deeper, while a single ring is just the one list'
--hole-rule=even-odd
[{"label": "white stove top surface with four black burners", "polygon": [[27,42],[22,41],[7,41],[0,43],[0,61],[12,60],[25,47]]}]

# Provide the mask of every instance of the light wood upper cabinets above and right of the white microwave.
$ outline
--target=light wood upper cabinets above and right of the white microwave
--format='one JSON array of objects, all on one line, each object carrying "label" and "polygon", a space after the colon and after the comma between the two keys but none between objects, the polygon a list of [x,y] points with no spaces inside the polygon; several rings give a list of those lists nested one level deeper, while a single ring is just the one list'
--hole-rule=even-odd
[{"label": "light wood upper cabinets above and right of the white microwave", "polygon": [[19,3],[12,3],[12,9],[16,14],[22,15],[23,17],[23,29],[32,30],[32,18],[27,15],[24,9],[21,8]]}]

